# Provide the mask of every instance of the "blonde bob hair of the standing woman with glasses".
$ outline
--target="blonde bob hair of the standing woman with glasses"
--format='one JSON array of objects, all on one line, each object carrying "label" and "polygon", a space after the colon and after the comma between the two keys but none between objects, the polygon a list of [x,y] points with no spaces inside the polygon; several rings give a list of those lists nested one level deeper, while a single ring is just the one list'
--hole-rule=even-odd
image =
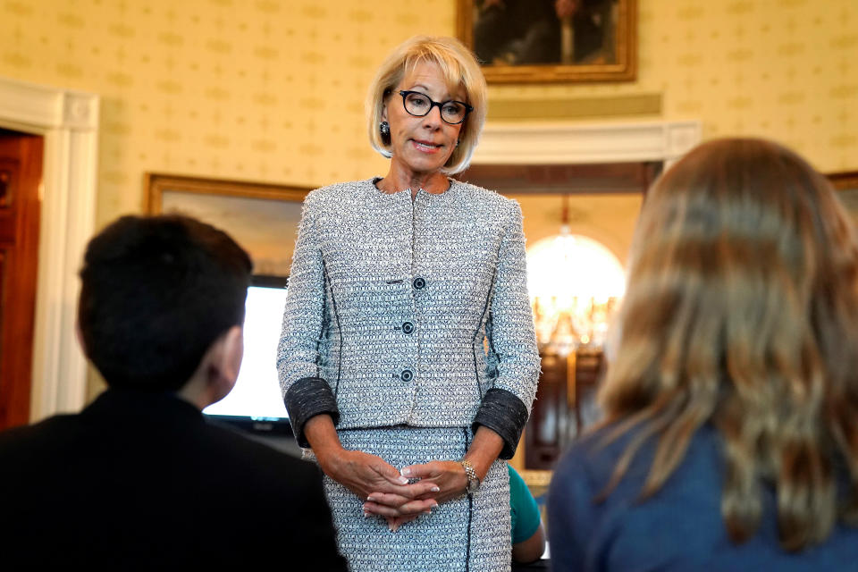
[{"label": "blonde bob hair of the standing woman with glasses", "polygon": [[416,36],[397,46],[387,56],[375,74],[366,97],[369,142],[383,156],[392,156],[390,136],[383,136],[379,130],[383,108],[400,81],[420,63],[436,64],[441,69],[447,88],[450,91],[459,86],[465,88],[465,103],[474,107],[474,111],[462,123],[458,146],[441,169],[445,174],[464,171],[483,131],[488,97],[483,71],[480,71],[474,55],[456,38]]}]

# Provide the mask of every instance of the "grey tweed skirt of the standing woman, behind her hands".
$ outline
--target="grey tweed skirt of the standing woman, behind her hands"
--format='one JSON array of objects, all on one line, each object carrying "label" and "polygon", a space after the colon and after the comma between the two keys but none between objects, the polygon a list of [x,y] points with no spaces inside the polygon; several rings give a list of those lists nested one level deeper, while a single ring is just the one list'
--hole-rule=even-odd
[{"label": "grey tweed skirt of the standing woman, behind her hands", "polygon": [[[461,458],[472,435],[462,427],[395,426],[340,431],[342,446],[378,455],[393,467]],[[306,451],[306,457],[313,458]],[[509,475],[492,464],[473,495],[442,503],[391,533],[382,517],[364,517],[364,501],[331,478],[324,488],[340,551],[352,572],[429,570],[509,572]]]}]

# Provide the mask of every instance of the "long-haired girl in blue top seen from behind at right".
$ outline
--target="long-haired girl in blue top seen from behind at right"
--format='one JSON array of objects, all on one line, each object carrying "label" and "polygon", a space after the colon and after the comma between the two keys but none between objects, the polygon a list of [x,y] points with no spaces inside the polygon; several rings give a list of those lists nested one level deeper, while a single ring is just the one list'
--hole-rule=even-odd
[{"label": "long-haired girl in blue top seen from behind at right", "polygon": [[557,570],[858,567],[858,247],[784,147],[694,149],[647,195],[606,425],[551,484]]}]

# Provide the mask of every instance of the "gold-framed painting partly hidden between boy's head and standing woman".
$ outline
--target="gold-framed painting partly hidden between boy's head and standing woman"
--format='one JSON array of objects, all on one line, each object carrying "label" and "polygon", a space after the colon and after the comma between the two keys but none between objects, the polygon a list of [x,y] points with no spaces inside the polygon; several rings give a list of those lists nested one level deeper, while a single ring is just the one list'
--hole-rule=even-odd
[{"label": "gold-framed painting partly hidden between boy's head and standing woman", "polygon": [[148,172],[149,214],[187,214],[226,231],[254,273],[288,276],[304,198],[311,189]]}]

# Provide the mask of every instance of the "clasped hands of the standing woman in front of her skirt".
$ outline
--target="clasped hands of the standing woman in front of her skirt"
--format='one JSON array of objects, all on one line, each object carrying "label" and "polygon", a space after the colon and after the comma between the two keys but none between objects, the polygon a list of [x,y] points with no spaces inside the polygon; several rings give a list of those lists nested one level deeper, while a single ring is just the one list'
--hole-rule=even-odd
[{"label": "clasped hands of the standing woman in front of her skirt", "polygon": [[400,474],[383,458],[359,450],[341,449],[318,460],[326,475],[365,500],[364,516],[384,517],[391,532],[467,492],[465,468],[456,461],[411,465]]}]

